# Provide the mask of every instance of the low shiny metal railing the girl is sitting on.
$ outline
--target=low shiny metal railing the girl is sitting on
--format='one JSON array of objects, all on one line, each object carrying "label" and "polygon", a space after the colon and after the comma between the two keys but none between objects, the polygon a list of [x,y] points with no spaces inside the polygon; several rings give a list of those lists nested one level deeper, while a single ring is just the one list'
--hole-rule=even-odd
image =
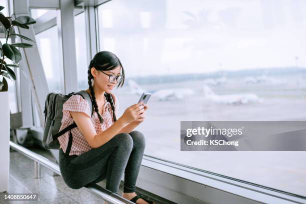
[{"label": "low shiny metal railing the girl is sitting on", "polygon": [[[9,141],[9,146],[20,152],[21,154],[27,156],[28,158],[34,160],[34,178],[40,178],[40,164],[44,165],[45,167],[51,169],[55,173],[61,175],[58,164],[54,163],[53,161],[41,156],[40,154],[33,152],[27,148],[24,148],[23,146],[16,144],[12,141]],[[129,201],[128,199],[125,199],[124,197],[119,196],[116,193],[111,192],[110,190],[107,190],[103,187],[101,187],[98,184],[95,183],[89,183],[86,186],[84,186],[86,190],[89,192],[100,196],[104,201],[111,204],[121,204],[121,203],[128,203],[128,204],[134,204],[134,202]]]}]

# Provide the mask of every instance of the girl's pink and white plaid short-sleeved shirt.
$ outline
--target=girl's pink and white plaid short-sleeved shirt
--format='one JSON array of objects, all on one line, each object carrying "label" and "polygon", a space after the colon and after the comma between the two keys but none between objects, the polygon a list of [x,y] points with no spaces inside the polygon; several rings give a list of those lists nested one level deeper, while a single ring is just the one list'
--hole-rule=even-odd
[{"label": "girl's pink and white plaid short-sleeved shirt", "polygon": [[[115,106],[115,115],[117,118],[118,115],[118,101],[116,96],[111,93],[113,100],[114,100],[114,106]],[[71,117],[69,111],[74,112],[84,112],[89,117],[91,117],[89,104],[86,99],[82,98],[80,95],[72,95],[69,97],[69,99],[63,103],[62,106],[62,119],[61,119],[61,126],[59,128],[59,131],[69,124],[73,123],[73,118]],[[110,103],[107,101],[102,110],[102,118],[103,123],[100,124],[99,118],[97,113],[93,110],[93,115],[91,117],[92,125],[96,131],[96,133],[99,133],[101,131],[104,131],[109,126],[111,126],[114,122],[113,116],[112,116],[112,109]],[[118,118],[117,118],[118,119]],[[69,155],[80,155],[88,150],[91,149],[90,145],[88,144],[87,140],[85,139],[84,135],[81,133],[78,127],[74,127],[71,129],[72,133],[72,145],[69,152]],[[68,144],[69,139],[69,131],[65,132],[58,138],[60,148],[62,148],[63,152],[66,152],[66,147]]]}]

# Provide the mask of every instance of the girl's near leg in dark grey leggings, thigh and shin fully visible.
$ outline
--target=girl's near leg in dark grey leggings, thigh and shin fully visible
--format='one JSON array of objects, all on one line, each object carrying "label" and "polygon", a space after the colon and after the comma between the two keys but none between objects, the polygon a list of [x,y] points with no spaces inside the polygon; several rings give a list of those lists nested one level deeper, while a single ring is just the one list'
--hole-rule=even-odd
[{"label": "girl's near leg in dark grey leggings, thigh and shin fully visible", "polygon": [[79,155],[64,157],[59,152],[59,167],[65,183],[74,189],[81,188],[106,175],[106,189],[117,193],[128,161],[133,140],[127,133],[119,133],[98,148]]}]

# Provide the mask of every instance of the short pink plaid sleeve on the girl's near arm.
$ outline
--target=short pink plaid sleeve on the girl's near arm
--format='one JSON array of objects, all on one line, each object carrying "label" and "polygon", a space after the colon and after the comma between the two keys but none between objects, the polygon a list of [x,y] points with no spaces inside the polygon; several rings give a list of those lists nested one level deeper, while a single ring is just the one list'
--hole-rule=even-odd
[{"label": "short pink plaid sleeve on the girl's near arm", "polygon": [[91,117],[89,104],[86,99],[80,95],[71,95],[62,105],[62,113],[71,117],[69,111],[84,112]]}]

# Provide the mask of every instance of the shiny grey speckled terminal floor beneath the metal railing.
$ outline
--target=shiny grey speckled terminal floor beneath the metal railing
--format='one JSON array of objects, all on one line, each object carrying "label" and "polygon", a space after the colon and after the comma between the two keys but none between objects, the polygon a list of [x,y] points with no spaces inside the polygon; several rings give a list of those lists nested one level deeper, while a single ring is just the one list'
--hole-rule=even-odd
[{"label": "shiny grey speckled terminal floor beneath the metal railing", "polygon": [[[41,147],[33,147],[31,150],[48,157],[54,161],[51,153]],[[5,201],[2,203],[104,203],[104,201],[87,191],[85,188],[72,189],[68,187],[60,175],[53,175],[53,171],[41,166],[41,178],[34,178],[34,161],[21,153],[10,150],[8,191],[4,193],[37,193],[37,201]],[[105,187],[105,179],[98,184]],[[122,182],[119,187],[119,195],[122,194]],[[141,191],[142,193],[140,193]],[[136,188],[137,194],[145,191]],[[148,192],[145,192],[148,193]],[[3,192],[0,197],[3,197]],[[146,194],[153,198],[156,204],[173,203],[153,194]],[[144,195],[144,196],[146,196]],[[157,201],[158,200],[158,201]]]}]

